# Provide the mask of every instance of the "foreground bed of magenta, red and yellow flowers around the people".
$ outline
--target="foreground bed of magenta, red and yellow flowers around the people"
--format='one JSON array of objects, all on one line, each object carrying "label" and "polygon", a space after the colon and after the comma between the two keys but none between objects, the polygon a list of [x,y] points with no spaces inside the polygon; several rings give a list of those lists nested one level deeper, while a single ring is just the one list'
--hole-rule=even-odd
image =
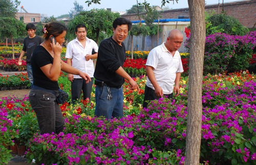
[{"label": "foreground bed of magenta, red and yellow flowers around the people", "polygon": [[[141,90],[131,91],[125,81],[123,118],[93,116],[94,86],[91,102],[73,105],[69,98],[61,105],[66,125],[60,134],[38,133],[28,97],[2,98],[0,143],[22,141],[36,164],[184,164],[189,78],[181,77],[175,100],[161,98],[144,109],[146,76],[134,80]],[[60,88],[70,94],[69,83],[62,74]],[[202,83],[201,164],[256,164],[255,75],[208,74]],[[9,150],[1,148],[6,162]]]}]

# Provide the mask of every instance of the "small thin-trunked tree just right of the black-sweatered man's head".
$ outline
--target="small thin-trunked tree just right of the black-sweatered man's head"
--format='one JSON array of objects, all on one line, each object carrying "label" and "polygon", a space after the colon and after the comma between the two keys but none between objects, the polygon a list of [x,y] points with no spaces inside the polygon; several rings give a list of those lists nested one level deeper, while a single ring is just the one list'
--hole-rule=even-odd
[{"label": "small thin-trunked tree just right of the black-sweatered man's head", "polygon": [[132,29],[129,31],[129,35],[132,36],[132,59],[133,59],[133,36],[146,36],[149,35],[148,33],[149,28],[147,26],[145,26],[144,24],[133,24],[132,25]]}]

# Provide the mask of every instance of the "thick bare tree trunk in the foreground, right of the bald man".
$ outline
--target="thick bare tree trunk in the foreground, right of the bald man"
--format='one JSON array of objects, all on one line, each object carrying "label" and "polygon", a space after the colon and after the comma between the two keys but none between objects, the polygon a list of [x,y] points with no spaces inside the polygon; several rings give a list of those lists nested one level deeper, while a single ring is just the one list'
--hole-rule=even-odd
[{"label": "thick bare tree trunk in the foreground, right of the bald man", "polygon": [[205,1],[188,0],[191,23],[185,164],[199,164],[202,125],[202,80],[205,46]]}]

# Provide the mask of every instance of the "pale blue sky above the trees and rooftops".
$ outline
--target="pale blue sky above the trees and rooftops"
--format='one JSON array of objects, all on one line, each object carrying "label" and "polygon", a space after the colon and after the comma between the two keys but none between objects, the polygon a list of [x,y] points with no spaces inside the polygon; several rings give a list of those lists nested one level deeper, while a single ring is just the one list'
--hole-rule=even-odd
[{"label": "pale blue sky above the trees and rooftops", "polygon": [[[47,14],[47,16],[58,17],[63,14],[69,14],[70,10],[74,7],[75,0],[43,0],[43,1],[31,1],[31,0],[19,0],[20,5],[18,7],[18,12],[21,12],[21,7],[23,6],[28,13],[40,13]],[[79,5],[83,6],[84,10],[91,9],[102,9],[111,8],[112,11],[123,11],[131,9],[133,5],[137,4],[136,0],[101,0],[99,4],[92,4],[90,7],[85,3],[87,0],[77,0]],[[206,0],[206,5],[222,3],[222,0]],[[242,0],[224,0],[224,3],[236,2]],[[138,0],[138,2],[144,2],[143,0]],[[162,0],[146,0],[151,6],[156,5],[161,7]],[[170,9],[181,9],[188,8],[187,0],[179,0],[178,4],[175,2],[166,3]],[[22,11],[24,12],[24,11]]]}]

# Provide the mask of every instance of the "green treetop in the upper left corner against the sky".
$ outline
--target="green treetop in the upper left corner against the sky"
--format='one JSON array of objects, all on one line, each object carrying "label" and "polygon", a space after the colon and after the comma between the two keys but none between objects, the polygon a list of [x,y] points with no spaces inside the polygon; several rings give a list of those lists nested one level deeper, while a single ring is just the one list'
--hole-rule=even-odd
[{"label": "green treetop in the upper left corner against the sky", "polygon": [[13,17],[15,18],[15,14],[18,11],[17,7],[20,2],[17,0],[1,0],[0,1],[0,17]]}]

